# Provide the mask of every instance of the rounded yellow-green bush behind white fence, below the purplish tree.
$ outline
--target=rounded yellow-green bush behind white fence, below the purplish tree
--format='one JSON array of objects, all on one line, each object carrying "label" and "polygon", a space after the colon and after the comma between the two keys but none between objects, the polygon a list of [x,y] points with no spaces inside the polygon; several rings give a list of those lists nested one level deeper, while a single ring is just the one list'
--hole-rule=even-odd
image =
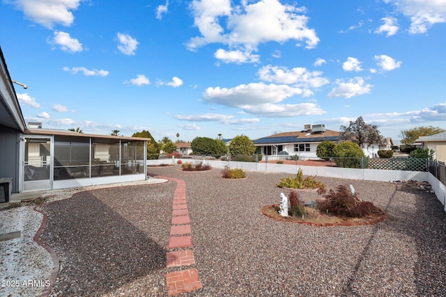
[{"label": "rounded yellow-green bush behind white fence, below the purplish tree", "polygon": [[365,158],[362,148],[351,141],[339,143],[333,148],[333,153],[337,166],[344,168],[361,168],[361,158]]}]

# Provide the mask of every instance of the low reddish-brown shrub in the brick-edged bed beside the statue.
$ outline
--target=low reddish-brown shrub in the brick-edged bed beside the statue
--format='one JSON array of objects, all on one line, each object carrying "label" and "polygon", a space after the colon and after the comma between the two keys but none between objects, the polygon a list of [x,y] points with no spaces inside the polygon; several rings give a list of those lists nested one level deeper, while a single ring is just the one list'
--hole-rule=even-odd
[{"label": "low reddish-brown shrub in the brick-edged bed beside the statue", "polygon": [[337,186],[337,191],[330,189],[325,199],[316,200],[316,207],[319,211],[335,216],[345,216],[349,218],[360,218],[371,214],[381,214],[382,211],[373,203],[362,201],[353,194],[348,186]]}]

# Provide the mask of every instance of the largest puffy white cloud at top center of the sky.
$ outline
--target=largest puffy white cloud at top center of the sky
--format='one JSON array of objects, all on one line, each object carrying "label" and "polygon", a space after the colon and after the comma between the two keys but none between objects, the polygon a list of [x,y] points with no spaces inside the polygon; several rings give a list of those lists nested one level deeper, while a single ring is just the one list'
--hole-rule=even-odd
[{"label": "largest puffy white cloud at top center of the sky", "polygon": [[305,42],[307,48],[316,47],[319,38],[307,27],[305,8],[283,5],[278,0],[242,1],[231,7],[229,0],[194,0],[190,8],[194,26],[201,36],[191,38],[188,49],[194,50],[209,43],[219,42],[230,47],[255,50],[263,42]]}]

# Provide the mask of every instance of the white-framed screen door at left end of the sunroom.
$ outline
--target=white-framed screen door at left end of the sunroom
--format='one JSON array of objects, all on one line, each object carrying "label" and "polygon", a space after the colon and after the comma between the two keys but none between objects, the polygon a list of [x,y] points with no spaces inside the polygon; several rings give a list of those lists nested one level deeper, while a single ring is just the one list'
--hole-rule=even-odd
[{"label": "white-framed screen door at left end of the sunroom", "polygon": [[22,142],[22,191],[52,188],[52,137],[24,136]]}]

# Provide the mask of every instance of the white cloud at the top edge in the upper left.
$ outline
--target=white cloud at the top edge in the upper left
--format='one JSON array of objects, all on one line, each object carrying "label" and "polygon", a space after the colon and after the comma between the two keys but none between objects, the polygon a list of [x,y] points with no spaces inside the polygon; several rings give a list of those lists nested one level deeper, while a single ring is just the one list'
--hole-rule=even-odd
[{"label": "white cloud at the top edge in the upper left", "polygon": [[33,22],[52,29],[54,24],[70,26],[75,17],[70,10],[76,10],[82,0],[11,0],[18,10]]}]

